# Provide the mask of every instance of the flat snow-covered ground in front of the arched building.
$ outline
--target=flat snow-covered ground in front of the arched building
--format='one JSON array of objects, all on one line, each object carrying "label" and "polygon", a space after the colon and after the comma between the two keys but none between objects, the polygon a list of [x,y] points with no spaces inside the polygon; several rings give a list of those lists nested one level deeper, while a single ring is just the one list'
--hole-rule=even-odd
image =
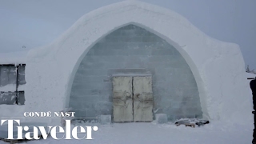
[{"label": "flat snow-covered ground in front of the arched building", "polygon": [[[154,122],[114,123],[112,125],[103,126],[95,124],[91,126],[98,126],[98,131],[92,132],[92,138],[94,138],[94,140],[54,140],[53,138],[47,138],[46,140],[29,141],[27,143],[246,144],[251,143],[253,132],[253,124],[248,123],[245,125],[235,125],[230,123],[211,122],[206,126],[195,128],[175,126],[174,123],[160,125],[154,124]],[[81,137],[82,135],[80,138]]]}]

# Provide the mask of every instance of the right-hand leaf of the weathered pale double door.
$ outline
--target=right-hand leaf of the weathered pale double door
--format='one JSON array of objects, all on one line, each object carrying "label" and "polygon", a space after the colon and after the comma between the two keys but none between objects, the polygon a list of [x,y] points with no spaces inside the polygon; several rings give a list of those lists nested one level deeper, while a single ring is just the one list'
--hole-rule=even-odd
[{"label": "right-hand leaf of the weathered pale double door", "polygon": [[153,121],[153,91],[150,76],[134,77],[134,122]]}]

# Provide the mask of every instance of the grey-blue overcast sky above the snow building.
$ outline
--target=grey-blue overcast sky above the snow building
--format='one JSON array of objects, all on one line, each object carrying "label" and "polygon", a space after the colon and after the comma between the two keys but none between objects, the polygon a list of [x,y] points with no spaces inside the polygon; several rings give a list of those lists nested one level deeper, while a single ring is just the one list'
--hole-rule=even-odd
[{"label": "grey-blue overcast sky above the snow building", "polygon": [[[121,1],[0,0],[0,53],[46,45],[82,15]],[[212,38],[237,43],[246,64],[256,69],[256,0],[142,1],[182,14]]]}]

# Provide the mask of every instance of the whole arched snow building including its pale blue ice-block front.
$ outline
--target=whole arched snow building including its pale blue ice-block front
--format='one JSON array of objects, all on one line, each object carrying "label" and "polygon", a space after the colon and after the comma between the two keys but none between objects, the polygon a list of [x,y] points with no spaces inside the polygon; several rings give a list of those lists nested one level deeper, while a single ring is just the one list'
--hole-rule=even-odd
[{"label": "whole arched snow building including its pale blue ice-block front", "polygon": [[[147,78],[141,83],[150,89],[141,94],[150,95],[143,106],[153,116],[252,122],[239,46],[210,38],[173,11],[138,1],[94,10],[50,45],[30,50],[25,110],[120,114],[113,110],[123,99],[115,94],[123,90],[125,101],[134,104],[134,78],[140,77]],[[125,81],[130,87],[115,89]]]}]

